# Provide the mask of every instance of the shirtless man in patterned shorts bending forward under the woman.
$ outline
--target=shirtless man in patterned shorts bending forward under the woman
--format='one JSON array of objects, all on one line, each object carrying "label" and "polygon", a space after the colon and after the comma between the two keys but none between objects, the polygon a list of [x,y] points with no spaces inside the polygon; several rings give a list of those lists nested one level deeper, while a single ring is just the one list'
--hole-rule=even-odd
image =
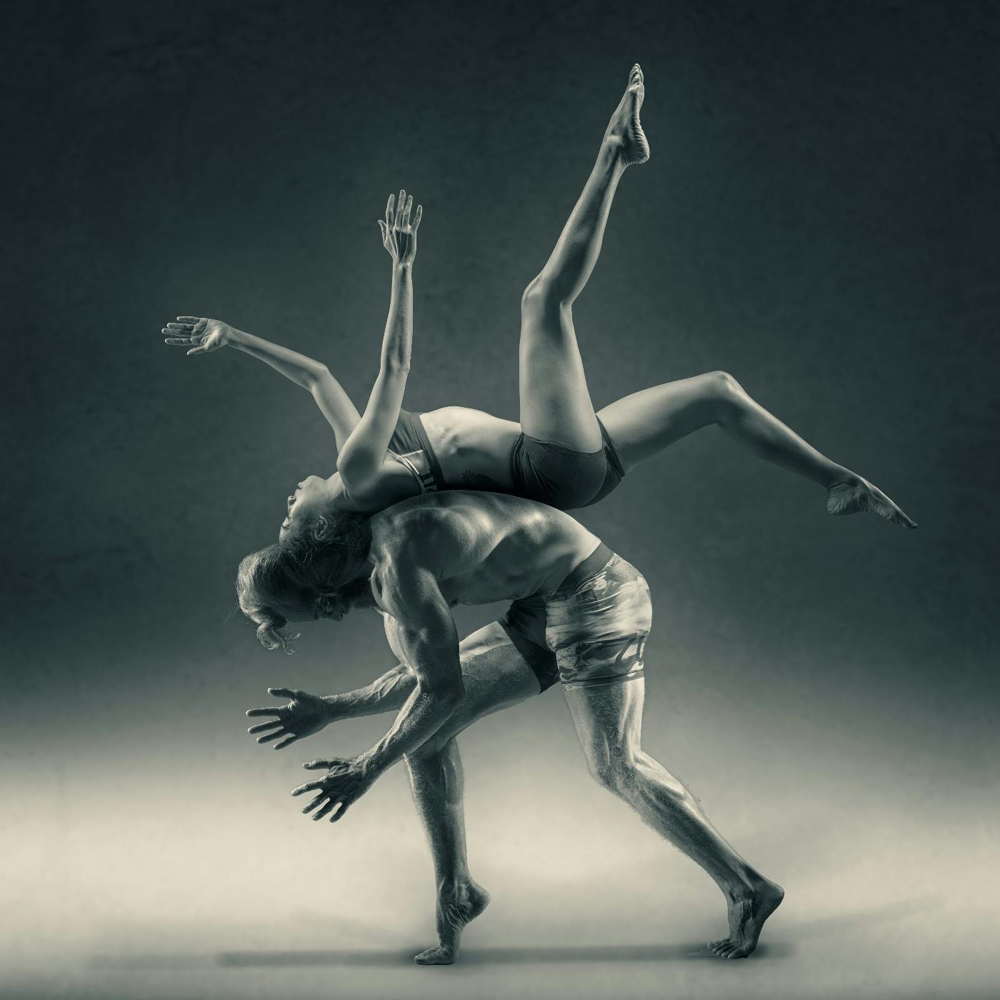
[{"label": "shirtless man in patterned shorts bending forward under the woman", "polygon": [[[284,586],[269,565],[257,596],[292,621],[339,620],[352,607],[374,607],[407,668],[348,696],[357,714],[380,710],[385,698],[405,698],[385,736],[353,760],[306,764],[328,773],[292,794],[316,792],[302,811],[336,821],[405,757],[438,885],[439,943],[416,960],[454,962],[462,928],[489,901],[465,859],[456,734],[557,679],[593,777],[694,859],[725,895],[729,936],[709,947],[721,958],[749,955],[784,892],[747,864],[680,781],[642,750],[643,648],[652,608],[641,574],[569,515],[519,497],[428,494],[366,523],[370,545],[355,556],[340,553],[331,569],[339,586],[315,594],[300,583]],[[508,598],[514,603],[506,621],[467,640],[463,664],[450,607]],[[274,730],[259,742],[287,745],[322,725],[327,703],[283,688],[273,693],[292,702],[248,713],[277,716],[251,728]]]}]

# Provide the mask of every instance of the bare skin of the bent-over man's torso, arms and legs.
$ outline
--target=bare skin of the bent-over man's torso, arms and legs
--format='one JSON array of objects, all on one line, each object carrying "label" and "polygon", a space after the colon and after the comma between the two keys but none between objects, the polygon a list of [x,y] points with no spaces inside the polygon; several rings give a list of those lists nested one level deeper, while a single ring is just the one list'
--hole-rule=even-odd
[{"label": "bare skin of the bent-over man's torso, arms and legs", "polygon": [[[371,565],[363,572],[371,575],[390,645],[412,669],[414,686],[407,689],[394,680],[386,684],[390,705],[405,699],[386,737],[354,760],[325,758],[307,764],[327,774],[300,785],[293,794],[316,793],[302,811],[311,812],[314,819],[329,816],[336,822],[392,762],[406,757],[438,886],[438,944],[417,960],[447,964],[457,957],[462,929],[489,901],[468,872],[462,772],[454,737],[475,719],[535,693],[537,684],[529,683],[533,675],[525,672],[526,665],[502,631],[495,634],[491,648],[469,657],[461,654],[457,636],[446,638],[454,635],[453,630],[439,628],[434,620],[442,608],[458,603],[485,604],[549,593],[593,551],[597,540],[566,514],[488,493],[432,494],[400,504],[372,521]],[[402,594],[396,592],[400,589]],[[371,606],[371,601],[362,600],[357,606]],[[448,649],[451,641],[454,654]],[[461,694],[439,701],[451,664],[457,664],[456,689]],[[439,693],[437,698],[434,692]],[[782,890],[736,854],[683,785],[642,749],[643,693],[641,676],[627,683],[566,690],[589,770],[715,880],[730,914],[728,945],[715,953],[743,957],[756,946]],[[277,715],[279,725],[268,740],[279,739],[284,745],[288,734],[312,729],[321,700],[293,695],[293,702],[277,712],[253,710]],[[426,696],[423,708],[422,695]],[[293,708],[295,700],[302,706],[298,711]],[[345,696],[340,710],[351,700]],[[366,711],[372,705],[370,693],[357,701]]]}]

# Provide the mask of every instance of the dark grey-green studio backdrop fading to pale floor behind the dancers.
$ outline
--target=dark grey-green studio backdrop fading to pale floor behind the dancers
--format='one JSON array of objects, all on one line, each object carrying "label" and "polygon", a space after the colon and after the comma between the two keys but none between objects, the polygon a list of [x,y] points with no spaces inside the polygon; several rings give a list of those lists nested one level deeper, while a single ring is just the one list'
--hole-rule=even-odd
[{"label": "dark grey-green studio backdrop fading to pale floor behind the dancers", "polygon": [[[990,992],[995,4],[3,19],[5,995]],[[424,205],[408,405],[515,416],[519,293],[636,60],[653,158],[576,309],[595,402],[723,368],[921,526],[828,518],[714,430],[586,511],[652,588],[649,749],[786,905],[762,957],[684,959],[721,897],[590,782],[555,689],[462,741],[495,902],[465,964],[419,970],[432,880],[402,769],[336,827],[287,794],[389,717],[280,755],[242,717],[268,684],[390,663],[374,616],[307,626],[293,658],[227,618],[329,431],[263,365],[158,331],[222,317],[363,400],[375,220],[404,185]]]}]

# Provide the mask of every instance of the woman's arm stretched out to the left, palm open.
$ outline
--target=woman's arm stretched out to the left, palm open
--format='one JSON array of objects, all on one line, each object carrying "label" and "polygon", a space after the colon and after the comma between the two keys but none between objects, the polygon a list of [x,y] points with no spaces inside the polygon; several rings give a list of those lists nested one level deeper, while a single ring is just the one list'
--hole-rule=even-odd
[{"label": "woman's arm stretched out to the left, palm open", "polygon": [[308,389],[333,428],[338,452],[361,419],[350,397],[326,365],[304,354],[205,316],[178,316],[176,323],[168,323],[163,328],[163,333],[166,343],[190,348],[188,354],[210,354],[220,347],[234,347],[270,365],[303,389]]}]

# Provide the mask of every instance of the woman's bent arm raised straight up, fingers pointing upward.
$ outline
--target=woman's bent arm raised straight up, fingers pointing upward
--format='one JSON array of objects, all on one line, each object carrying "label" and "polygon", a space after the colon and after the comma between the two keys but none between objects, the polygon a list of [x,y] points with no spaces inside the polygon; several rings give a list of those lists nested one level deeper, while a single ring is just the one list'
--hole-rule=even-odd
[{"label": "woman's bent arm raised straight up, fingers pointing upward", "polygon": [[345,486],[363,489],[382,468],[385,453],[399,420],[406,377],[410,372],[413,343],[413,261],[417,252],[417,228],[423,216],[417,206],[410,223],[413,196],[399,192],[399,201],[389,195],[385,221],[379,220],[382,243],[392,257],[392,291],[389,317],[382,338],[378,378],[368,397],[364,415],[340,452],[337,470]]}]

